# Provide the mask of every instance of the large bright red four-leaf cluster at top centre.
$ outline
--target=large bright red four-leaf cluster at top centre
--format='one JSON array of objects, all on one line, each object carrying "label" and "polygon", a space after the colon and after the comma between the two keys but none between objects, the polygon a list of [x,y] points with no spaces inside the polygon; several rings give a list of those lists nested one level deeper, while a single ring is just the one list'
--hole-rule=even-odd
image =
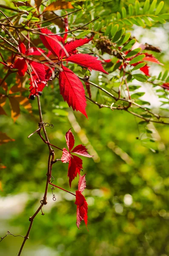
[{"label": "large bright red four-leaf cluster at top centre", "polygon": [[[40,32],[44,34],[52,34],[49,29],[40,29]],[[40,38],[44,44],[44,46],[52,52],[58,58],[58,61],[61,62],[62,70],[59,73],[59,86],[60,86],[60,94],[63,96],[64,101],[66,101],[73,108],[73,110],[80,111],[86,117],[86,98],[85,98],[85,90],[83,88],[83,84],[80,79],[69,70],[69,68],[63,66],[63,61],[70,61],[72,63],[79,64],[88,69],[97,70],[103,73],[108,74],[102,67],[101,61],[99,61],[96,57],[93,57],[89,54],[78,54],[74,52],[77,47],[80,47],[89,41],[92,38],[84,38],[76,41],[67,42],[58,35],[40,35]],[[60,44],[63,43],[63,46]],[[67,55],[69,57],[67,57]]]}]

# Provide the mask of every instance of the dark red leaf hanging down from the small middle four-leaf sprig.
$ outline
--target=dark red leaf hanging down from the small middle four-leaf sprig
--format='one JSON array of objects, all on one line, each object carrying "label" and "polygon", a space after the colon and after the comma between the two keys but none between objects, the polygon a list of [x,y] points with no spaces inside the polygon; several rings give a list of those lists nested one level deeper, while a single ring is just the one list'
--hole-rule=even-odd
[{"label": "dark red leaf hanging down from the small middle four-leaf sprig", "polygon": [[80,174],[80,169],[82,168],[83,161],[76,156],[72,156],[69,160],[68,167],[68,177],[69,177],[69,185],[71,187],[72,180],[77,177],[77,174]]}]

